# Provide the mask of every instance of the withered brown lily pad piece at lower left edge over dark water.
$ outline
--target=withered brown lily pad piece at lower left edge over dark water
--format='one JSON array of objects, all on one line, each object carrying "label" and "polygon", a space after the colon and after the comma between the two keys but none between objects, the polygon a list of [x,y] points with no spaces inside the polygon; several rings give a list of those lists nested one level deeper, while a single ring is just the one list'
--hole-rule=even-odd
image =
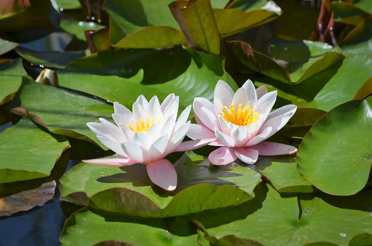
[{"label": "withered brown lily pad piece at lower left edge over dark water", "polygon": [[54,197],[56,181],[42,184],[36,189],[24,190],[23,192],[0,199],[0,217],[9,216],[19,211],[27,211],[36,206],[43,206]]}]

